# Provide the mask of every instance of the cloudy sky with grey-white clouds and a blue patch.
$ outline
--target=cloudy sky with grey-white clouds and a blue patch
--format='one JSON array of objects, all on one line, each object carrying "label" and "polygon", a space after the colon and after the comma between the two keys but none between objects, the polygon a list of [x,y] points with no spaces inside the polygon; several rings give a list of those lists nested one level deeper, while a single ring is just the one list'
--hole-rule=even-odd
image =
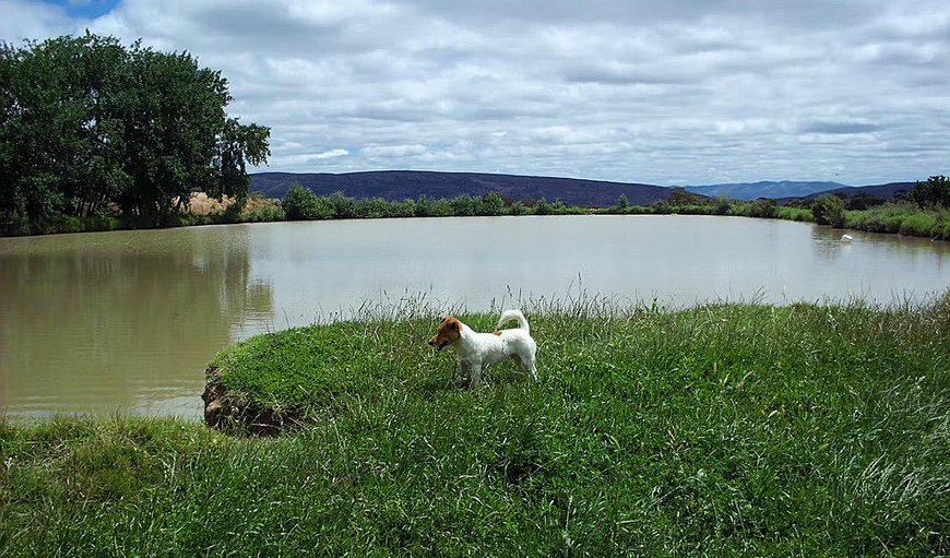
[{"label": "cloudy sky with grey-white clouds and a blue patch", "polygon": [[658,185],[950,175],[946,0],[0,0],[219,69],[268,169]]}]

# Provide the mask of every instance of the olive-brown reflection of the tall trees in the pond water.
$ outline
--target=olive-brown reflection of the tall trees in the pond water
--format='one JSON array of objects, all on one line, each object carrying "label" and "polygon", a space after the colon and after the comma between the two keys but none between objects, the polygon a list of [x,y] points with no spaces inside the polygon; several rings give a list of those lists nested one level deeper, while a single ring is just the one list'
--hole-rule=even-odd
[{"label": "olive-brown reflection of the tall trees in the pond water", "polygon": [[234,323],[271,312],[270,285],[249,283],[242,230],[14,240],[0,245],[0,376],[12,416],[194,416],[203,364]]}]

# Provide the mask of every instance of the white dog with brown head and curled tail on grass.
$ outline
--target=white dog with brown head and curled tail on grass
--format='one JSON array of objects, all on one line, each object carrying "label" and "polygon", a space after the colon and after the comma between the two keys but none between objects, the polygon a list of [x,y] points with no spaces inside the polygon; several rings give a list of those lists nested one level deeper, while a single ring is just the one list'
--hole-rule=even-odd
[{"label": "white dog with brown head and curled tail on grass", "polygon": [[[511,320],[518,321],[518,328],[500,330],[502,324]],[[506,310],[496,328],[500,331],[478,333],[455,317],[449,316],[439,323],[439,331],[429,340],[429,345],[439,351],[449,345],[455,347],[459,354],[459,373],[464,375],[465,368],[468,368],[473,388],[482,383],[482,370],[508,357],[518,360],[537,380],[534,361],[537,344],[530,334],[524,314],[519,310]]]}]

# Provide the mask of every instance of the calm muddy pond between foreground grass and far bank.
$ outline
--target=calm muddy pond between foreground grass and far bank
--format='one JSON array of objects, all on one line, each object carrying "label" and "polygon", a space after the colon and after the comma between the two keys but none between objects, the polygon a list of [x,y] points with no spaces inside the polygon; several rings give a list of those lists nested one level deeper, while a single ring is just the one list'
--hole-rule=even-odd
[{"label": "calm muddy pond between foreground grass and far bank", "polygon": [[[923,300],[950,245],[743,217],[268,223],[0,238],[0,413],[201,416],[203,369],[250,335],[424,300],[601,296]],[[424,340],[419,341],[420,347]]]}]

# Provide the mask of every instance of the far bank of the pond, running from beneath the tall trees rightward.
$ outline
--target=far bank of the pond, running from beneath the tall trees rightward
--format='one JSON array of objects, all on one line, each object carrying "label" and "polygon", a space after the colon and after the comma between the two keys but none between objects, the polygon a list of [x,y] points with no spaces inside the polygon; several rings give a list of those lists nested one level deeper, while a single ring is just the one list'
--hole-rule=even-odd
[{"label": "far bank of the pond, running from beneath the tall trees rightward", "polygon": [[[182,213],[168,214],[158,223],[140,217],[97,214],[92,217],[61,216],[49,223],[25,223],[10,228],[0,222],[0,236],[36,235],[55,233],[83,233],[128,230],[142,228],[168,228],[212,224],[273,223],[283,221],[329,221],[365,218],[411,217],[497,217],[497,216],[551,216],[551,215],[717,215],[757,218],[777,218],[799,222],[826,223],[816,219],[809,205],[815,200],[799,200],[794,205],[780,206],[775,200],[760,198],[753,201],[708,199],[674,188],[667,200],[649,205],[628,205],[619,202],[608,207],[581,207],[561,201],[545,199],[504,201],[497,192],[483,197],[468,194],[452,199],[388,201],[382,198],[349,198],[342,193],[316,195],[297,187],[284,200],[268,199],[253,194],[239,207],[234,199],[209,198],[204,193],[192,194]],[[832,198],[832,200],[835,200]],[[907,200],[891,200],[878,205],[865,206],[855,203],[844,211],[844,202],[836,210],[840,214],[834,224],[839,228],[867,233],[915,236],[931,240],[950,240],[950,209],[943,206],[921,207]],[[847,202],[848,204],[851,202]],[[827,217],[823,217],[827,218]],[[9,225],[9,224],[8,224]]]}]

